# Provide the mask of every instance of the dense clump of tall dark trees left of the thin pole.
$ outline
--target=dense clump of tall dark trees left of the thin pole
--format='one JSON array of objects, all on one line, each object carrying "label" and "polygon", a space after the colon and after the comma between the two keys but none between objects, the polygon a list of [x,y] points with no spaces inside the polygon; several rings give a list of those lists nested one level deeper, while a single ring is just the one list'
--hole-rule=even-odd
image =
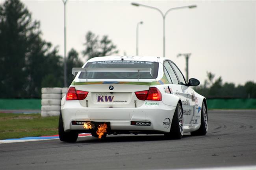
[{"label": "dense clump of tall dark trees left of the thin pole", "polygon": [[1,98],[40,97],[43,77],[61,77],[58,50],[42,40],[40,23],[20,0],[0,5],[0,41]]}]

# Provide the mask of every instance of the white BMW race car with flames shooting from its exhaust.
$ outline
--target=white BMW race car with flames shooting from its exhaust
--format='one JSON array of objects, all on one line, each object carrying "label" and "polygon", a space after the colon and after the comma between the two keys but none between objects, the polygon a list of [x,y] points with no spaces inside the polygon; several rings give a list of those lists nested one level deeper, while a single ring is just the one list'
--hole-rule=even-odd
[{"label": "white BMW race car with flames shooting from its exhaust", "polygon": [[59,139],[75,142],[78,133],[205,135],[206,98],[189,86],[171,60],[160,57],[95,57],[73,68],[75,79],[61,100]]}]

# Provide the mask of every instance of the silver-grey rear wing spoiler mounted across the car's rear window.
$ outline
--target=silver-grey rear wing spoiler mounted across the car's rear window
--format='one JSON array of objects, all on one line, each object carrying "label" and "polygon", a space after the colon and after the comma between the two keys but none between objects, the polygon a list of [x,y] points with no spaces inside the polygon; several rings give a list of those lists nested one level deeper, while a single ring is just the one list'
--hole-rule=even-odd
[{"label": "silver-grey rear wing spoiler mounted across the car's rear window", "polygon": [[151,68],[73,68],[72,75],[75,75],[76,72],[85,72],[85,78],[87,81],[87,72],[137,72],[138,81],[140,72],[148,72],[151,76],[153,71]]}]

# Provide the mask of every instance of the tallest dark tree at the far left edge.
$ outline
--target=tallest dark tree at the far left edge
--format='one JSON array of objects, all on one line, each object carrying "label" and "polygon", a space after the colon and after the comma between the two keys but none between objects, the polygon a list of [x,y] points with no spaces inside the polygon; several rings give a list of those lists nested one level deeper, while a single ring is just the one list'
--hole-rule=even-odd
[{"label": "tallest dark tree at the far left edge", "polygon": [[0,6],[0,94],[3,96],[23,95],[26,37],[37,25],[37,22],[31,23],[30,13],[19,0],[7,0]]}]

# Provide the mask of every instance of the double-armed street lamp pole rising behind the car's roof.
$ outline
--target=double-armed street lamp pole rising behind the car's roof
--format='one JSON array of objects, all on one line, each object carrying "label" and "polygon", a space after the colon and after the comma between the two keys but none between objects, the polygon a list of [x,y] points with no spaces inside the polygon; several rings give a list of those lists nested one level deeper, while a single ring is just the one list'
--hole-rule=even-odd
[{"label": "double-armed street lamp pole rising behind the car's roof", "polygon": [[174,10],[174,9],[195,8],[195,7],[197,7],[197,5],[189,5],[189,6],[182,6],[182,7],[174,7],[174,8],[168,9],[168,10],[166,11],[166,13],[163,14],[163,12],[162,12],[160,9],[156,8],[156,7],[152,7],[152,6],[148,6],[148,5],[143,5],[143,4],[138,4],[138,3],[132,3],[132,5],[137,6],[137,7],[138,7],[138,6],[143,6],[143,7],[148,7],[148,8],[151,8],[151,9],[156,9],[157,11],[159,11],[159,12],[161,13],[161,15],[162,15],[162,17],[163,17],[163,57],[165,57],[165,17],[166,17],[166,15],[167,15],[170,11],[172,11],[172,10]]}]

